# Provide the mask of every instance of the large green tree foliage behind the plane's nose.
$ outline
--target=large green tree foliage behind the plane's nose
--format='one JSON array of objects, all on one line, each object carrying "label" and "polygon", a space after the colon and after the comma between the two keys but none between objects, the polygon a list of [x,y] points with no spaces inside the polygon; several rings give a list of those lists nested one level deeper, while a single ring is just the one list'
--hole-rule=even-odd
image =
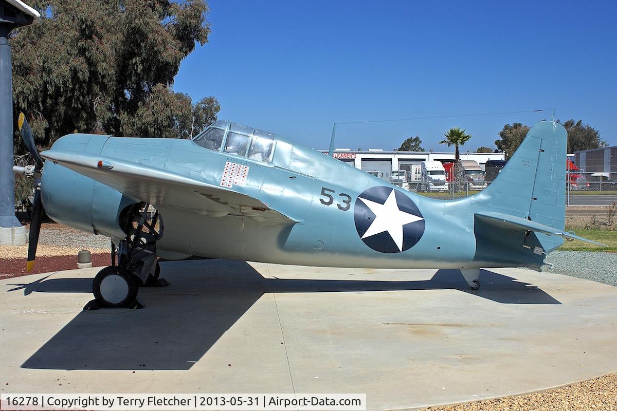
[{"label": "large green tree foliage behind the plane's nose", "polygon": [[[207,43],[204,0],[38,0],[40,21],[13,32],[14,118],[26,113],[38,143],[73,132],[188,137],[216,119],[170,86],[180,62]],[[16,128],[17,129],[17,128]],[[23,144],[16,132],[17,152]]]}]

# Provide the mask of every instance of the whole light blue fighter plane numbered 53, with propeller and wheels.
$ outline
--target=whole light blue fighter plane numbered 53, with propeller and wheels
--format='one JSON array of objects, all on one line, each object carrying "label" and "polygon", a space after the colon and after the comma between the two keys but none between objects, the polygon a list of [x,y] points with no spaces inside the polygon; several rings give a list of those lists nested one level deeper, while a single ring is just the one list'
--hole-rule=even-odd
[{"label": "whole light blue fighter plane numbered 53, with propeller and wheels", "polygon": [[460,269],[478,290],[481,267],[540,269],[563,237],[591,242],[564,232],[567,135],[553,121],[529,130],[487,189],[452,201],[228,121],[192,140],[69,134],[40,155],[23,115],[19,126],[36,161],[28,269],[43,210],[110,237],[112,265],[93,282],[102,307],[162,285],[158,258]]}]

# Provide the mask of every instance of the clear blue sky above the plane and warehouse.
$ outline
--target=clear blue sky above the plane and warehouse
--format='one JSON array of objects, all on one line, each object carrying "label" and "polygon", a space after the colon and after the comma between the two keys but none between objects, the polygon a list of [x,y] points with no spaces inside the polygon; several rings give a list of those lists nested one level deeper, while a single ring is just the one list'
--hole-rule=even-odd
[{"label": "clear blue sky above the plane and warehouse", "polygon": [[[219,118],[328,147],[333,122],[556,108],[617,144],[617,2],[211,0],[209,43],[173,86]],[[550,112],[337,126],[336,147],[492,145]]]}]

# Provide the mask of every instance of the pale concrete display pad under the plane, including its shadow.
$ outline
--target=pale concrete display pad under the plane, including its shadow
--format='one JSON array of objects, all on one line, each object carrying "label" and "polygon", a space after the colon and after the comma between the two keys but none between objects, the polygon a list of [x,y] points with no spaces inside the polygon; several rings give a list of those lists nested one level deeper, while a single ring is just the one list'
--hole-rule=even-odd
[{"label": "pale concrete display pad under the plane, including its shadow", "polygon": [[381,410],[617,370],[617,288],[587,280],[498,269],[471,291],[447,270],[161,267],[171,285],[141,288],[133,311],[81,311],[100,267],[1,280],[0,392],[366,393]]}]

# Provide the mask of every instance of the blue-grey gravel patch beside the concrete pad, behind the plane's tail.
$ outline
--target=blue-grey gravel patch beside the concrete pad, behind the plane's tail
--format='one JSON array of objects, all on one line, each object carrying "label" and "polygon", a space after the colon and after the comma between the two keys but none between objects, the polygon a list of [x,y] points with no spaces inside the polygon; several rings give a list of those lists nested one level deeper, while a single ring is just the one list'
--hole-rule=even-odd
[{"label": "blue-grey gravel patch beside the concrete pad, behind the plane's tail", "polygon": [[617,286],[617,253],[553,251],[545,261],[554,264],[545,271]]}]

